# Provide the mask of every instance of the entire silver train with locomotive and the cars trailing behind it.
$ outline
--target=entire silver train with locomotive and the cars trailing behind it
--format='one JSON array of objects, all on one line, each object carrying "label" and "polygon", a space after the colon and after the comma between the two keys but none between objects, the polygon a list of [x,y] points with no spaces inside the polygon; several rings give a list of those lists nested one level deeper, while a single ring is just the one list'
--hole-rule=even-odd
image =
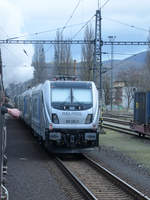
[{"label": "entire silver train with locomotive and the cars trailing behind it", "polygon": [[47,80],[19,99],[24,121],[51,152],[80,153],[99,146],[94,82]]}]

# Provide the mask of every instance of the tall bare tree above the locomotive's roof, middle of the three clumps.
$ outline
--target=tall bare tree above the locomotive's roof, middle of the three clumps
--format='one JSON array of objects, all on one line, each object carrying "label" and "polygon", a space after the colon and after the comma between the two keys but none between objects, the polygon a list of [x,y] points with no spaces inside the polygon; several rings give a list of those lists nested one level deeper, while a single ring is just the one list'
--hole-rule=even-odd
[{"label": "tall bare tree above the locomotive's roof, middle of the three clumps", "polygon": [[[63,35],[61,32],[56,32],[56,40],[62,41]],[[72,56],[70,44],[55,44],[54,45],[54,63],[55,73],[59,75],[70,75],[72,69]]]}]

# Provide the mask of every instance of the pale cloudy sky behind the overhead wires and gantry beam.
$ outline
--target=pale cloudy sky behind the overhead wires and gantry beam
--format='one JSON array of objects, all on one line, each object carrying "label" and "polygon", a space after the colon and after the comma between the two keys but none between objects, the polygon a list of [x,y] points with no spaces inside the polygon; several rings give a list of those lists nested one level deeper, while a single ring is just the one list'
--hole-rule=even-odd
[{"label": "pale cloudy sky behind the overhead wires and gantry beam", "polygon": [[[106,3],[107,2],[107,3]],[[101,0],[102,8],[102,39],[108,40],[109,35],[116,36],[116,41],[146,41],[150,27],[149,0]],[[76,8],[73,16],[73,10]],[[56,29],[63,27],[69,20],[70,28],[64,30],[64,37],[71,38],[87,22],[98,9],[98,0],[0,0],[0,36],[1,39],[18,37],[18,39],[55,39]],[[94,27],[94,19],[91,21]],[[80,25],[77,25],[80,24]],[[47,31],[46,33],[41,33]],[[39,33],[39,34],[35,34]],[[24,37],[20,37],[20,36]],[[74,39],[83,39],[81,31]],[[7,81],[15,81],[19,77],[24,81],[32,77],[30,67],[33,47],[31,45],[2,45],[3,64],[7,71]],[[51,48],[45,47],[49,54]],[[73,58],[79,58],[77,48],[73,47]],[[135,54],[146,50],[146,46],[115,47],[115,53]],[[24,53],[24,50],[27,54]],[[110,52],[110,47],[103,47]],[[114,54],[114,59],[123,58]],[[103,56],[103,60],[110,55]],[[11,71],[11,72],[10,72]]]}]

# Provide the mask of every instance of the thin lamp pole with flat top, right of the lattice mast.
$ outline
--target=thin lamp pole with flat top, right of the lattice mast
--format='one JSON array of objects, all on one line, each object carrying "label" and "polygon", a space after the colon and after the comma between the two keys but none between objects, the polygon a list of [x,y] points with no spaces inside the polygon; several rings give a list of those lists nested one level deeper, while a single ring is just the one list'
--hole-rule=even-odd
[{"label": "thin lamp pole with flat top, right of the lattice mast", "polygon": [[114,46],[113,46],[113,42],[116,38],[116,36],[108,36],[109,41],[111,42],[111,83],[110,83],[110,87],[111,87],[111,95],[110,95],[110,105],[111,105],[111,111],[112,111],[112,106],[113,106],[113,62],[114,62]]}]

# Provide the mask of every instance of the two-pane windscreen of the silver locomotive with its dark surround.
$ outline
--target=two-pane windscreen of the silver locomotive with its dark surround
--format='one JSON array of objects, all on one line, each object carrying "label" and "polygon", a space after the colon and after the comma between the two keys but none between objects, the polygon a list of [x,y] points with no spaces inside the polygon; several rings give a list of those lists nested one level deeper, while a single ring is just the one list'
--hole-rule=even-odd
[{"label": "two-pane windscreen of the silver locomotive with its dark surround", "polygon": [[93,106],[91,83],[55,82],[51,84],[52,107],[60,110],[86,110]]}]

